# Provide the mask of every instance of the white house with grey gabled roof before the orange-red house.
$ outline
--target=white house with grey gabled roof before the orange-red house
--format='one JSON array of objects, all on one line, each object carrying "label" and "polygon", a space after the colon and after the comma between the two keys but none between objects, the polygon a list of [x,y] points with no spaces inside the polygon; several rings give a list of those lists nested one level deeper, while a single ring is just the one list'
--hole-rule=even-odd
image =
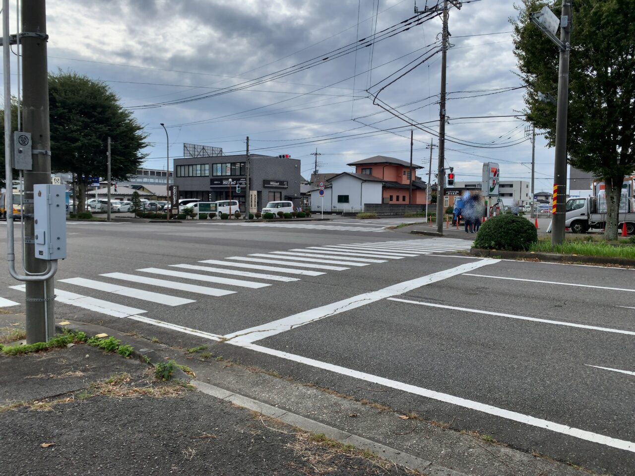
[{"label": "white house with grey gabled roof before the orange-red house", "polygon": [[326,212],[363,211],[364,204],[382,203],[384,180],[372,175],[343,172],[330,179],[330,187],[324,188],[323,197],[319,188],[311,190],[311,209]]}]

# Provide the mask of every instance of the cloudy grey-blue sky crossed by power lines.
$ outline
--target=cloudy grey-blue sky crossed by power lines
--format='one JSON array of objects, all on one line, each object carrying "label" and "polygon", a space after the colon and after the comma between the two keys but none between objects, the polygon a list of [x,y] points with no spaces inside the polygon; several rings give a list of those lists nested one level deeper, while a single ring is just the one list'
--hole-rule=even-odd
[{"label": "cloudy grey-blue sky crossed by power lines", "polygon": [[[49,69],[109,84],[149,133],[147,167],[166,166],[164,122],[170,157],[183,155],[184,142],[243,153],[250,136],[251,152],[291,154],[307,178],[316,148],[321,172],[349,170],[348,162],[378,154],[409,159],[409,126],[373,105],[372,96],[387,86],[378,96],[384,106],[425,129],[415,128],[414,161],[427,175],[429,143],[438,143],[441,54],[432,54],[441,21],[404,30],[399,23],[413,17],[414,6],[414,0],[49,1]],[[417,6],[423,9],[425,0]],[[446,145],[446,164],[457,180],[480,176],[483,161],[499,162],[503,180],[530,180],[526,123],[513,117],[524,107],[523,89],[511,89],[521,86],[509,25],[514,15],[512,0],[474,0],[450,11],[446,133],[455,142]],[[372,46],[359,42],[373,32]],[[553,151],[540,136],[536,146],[536,190],[549,190]]]}]

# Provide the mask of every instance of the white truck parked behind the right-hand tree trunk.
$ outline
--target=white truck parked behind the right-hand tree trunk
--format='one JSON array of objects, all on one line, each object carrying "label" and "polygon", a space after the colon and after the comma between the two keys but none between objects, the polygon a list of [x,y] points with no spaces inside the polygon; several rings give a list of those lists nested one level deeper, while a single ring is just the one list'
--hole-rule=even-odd
[{"label": "white truck parked behind the right-hand tree trunk", "polygon": [[[626,232],[635,233],[635,200],[622,195],[618,229],[626,223]],[[604,197],[570,198],[566,201],[565,227],[573,233],[586,233],[590,229],[603,230],[606,227],[606,201]]]}]

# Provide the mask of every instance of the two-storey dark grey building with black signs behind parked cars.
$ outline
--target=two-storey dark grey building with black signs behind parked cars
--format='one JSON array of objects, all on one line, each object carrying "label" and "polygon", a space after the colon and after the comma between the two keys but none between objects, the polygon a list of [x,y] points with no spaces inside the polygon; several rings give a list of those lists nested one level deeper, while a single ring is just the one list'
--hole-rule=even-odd
[{"label": "two-storey dark grey building with black signs behind parked cars", "polygon": [[[175,159],[174,185],[179,198],[215,202],[231,196],[244,210],[246,161],[244,154]],[[241,185],[240,192],[236,192],[236,185],[230,191],[229,179]],[[274,200],[291,200],[300,206],[301,180],[298,159],[250,154],[250,211],[260,211]]]}]

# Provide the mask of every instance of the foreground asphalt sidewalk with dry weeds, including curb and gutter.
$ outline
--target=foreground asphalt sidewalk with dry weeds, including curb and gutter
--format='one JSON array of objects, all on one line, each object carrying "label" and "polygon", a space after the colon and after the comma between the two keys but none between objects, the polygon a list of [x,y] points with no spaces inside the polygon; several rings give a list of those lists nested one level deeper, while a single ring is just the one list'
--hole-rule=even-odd
[{"label": "foreground asphalt sidewalk with dry weeds, including curb and gutter", "polygon": [[[21,323],[0,315],[0,338]],[[241,366],[231,345],[190,336],[184,350],[69,327],[108,333],[155,362],[174,359],[196,378],[159,381],[151,365],[87,344],[0,354],[0,474],[580,474],[407,409]]]}]

